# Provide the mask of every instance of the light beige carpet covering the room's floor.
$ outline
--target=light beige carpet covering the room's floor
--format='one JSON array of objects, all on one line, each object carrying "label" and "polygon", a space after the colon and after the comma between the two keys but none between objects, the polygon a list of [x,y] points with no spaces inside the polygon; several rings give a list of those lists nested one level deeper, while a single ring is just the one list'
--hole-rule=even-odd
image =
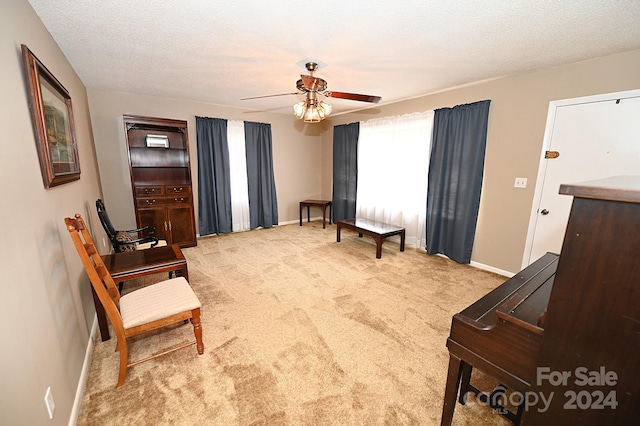
[{"label": "light beige carpet covering the room's floor", "polygon": [[[97,339],[78,424],[439,424],[451,317],[505,281],[393,241],[376,259],[373,239],[343,230],[336,243],[321,222],[183,251],[204,355],[190,347],[140,364],[116,389],[115,338]],[[130,359],[192,338],[190,324],[137,338]],[[509,422],[470,398],[454,424]]]}]

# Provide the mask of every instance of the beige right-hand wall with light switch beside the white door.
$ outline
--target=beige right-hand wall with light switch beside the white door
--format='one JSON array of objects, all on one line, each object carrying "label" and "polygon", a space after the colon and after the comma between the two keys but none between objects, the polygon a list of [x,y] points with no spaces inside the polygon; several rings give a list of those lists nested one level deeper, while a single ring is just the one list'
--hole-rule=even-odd
[{"label": "beige right-hand wall with light switch beside the white door", "polygon": [[[525,248],[549,102],[640,88],[640,50],[447,90],[331,124],[491,99],[485,174],[472,262],[517,272]],[[331,195],[332,133],[323,134],[322,195]],[[526,189],[513,187],[528,178]]]}]

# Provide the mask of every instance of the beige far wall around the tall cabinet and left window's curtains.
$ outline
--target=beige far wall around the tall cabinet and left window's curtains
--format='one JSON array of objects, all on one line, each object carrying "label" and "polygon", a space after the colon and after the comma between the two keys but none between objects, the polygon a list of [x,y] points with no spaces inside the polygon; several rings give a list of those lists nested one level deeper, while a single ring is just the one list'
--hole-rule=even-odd
[{"label": "beige far wall around the tall cabinet and left window's curtains", "polygon": [[[91,121],[100,163],[104,201],[114,226],[135,227],[129,160],[122,123],[123,114],[172,118],[188,122],[191,178],[197,209],[197,138],[195,117],[271,123],[273,166],[278,195],[279,222],[298,218],[298,203],[318,198],[322,187],[322,140],[326,127],[309,125],[292,115],[255,113],[237,108],[89,89]],[[292,105],[295,98],[292,97]],[[196,221],[198,215],[196,212]]]}]

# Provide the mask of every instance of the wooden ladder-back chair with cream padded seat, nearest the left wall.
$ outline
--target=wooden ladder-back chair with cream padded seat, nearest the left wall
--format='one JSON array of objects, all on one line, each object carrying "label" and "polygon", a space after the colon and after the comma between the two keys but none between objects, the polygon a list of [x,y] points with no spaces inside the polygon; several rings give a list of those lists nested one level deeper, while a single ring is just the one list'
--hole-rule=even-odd
[{"label": "wooden ladder-back chair with cream padded seat, nearest the left wall", "polygon": [[[127,368],[179,349],[196,345],[198,354],[204,353],[200,301],[184,277],[169,279],[125,294],[122,297],[98,253],[82,216],[65,218],[67,230],[89,275],[91,285],[104,306],[117,337],[116,350],[120,352],[118,384],[124,384]],[[182,344],[162,353],[129,363],[127,338],[171,324],[190,320],[195,342]]]}]

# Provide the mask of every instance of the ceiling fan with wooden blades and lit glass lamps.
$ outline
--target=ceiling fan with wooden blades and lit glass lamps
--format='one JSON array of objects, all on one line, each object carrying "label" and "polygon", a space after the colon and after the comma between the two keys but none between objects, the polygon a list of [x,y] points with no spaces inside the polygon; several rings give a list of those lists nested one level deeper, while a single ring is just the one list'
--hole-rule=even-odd
[{"label": "ceiling fan with wooden blades and lit glass lamps", "polygon": [[278,95],[266,95],[266,96],[254,96],[251,98],[243,98],[241,100],[270,98],[274,96],[287,96],[287,95],[305,95],[305,100],[298,102],[293,106],[294,115],[297,118],[303,119],[307,123],[317,123],[322,121],[325,117],[331,114],[332,107],[330,104],[324,101],[318,101],[318,94],[326,96],[327,98],[339,98],[349,99],[360,102],[380,102],[380,96],[371,95],[359,95],[357,93],[346,92],[334,92],[327,90],[327,81],[319,77],[314,77],[314,72],[318,69],[318,64],[315,62],[307,62],[305,68],[309,71],[308,75],[300,75],[300,80],[296,83],[298,92],[293,93],[281,93]]}]

